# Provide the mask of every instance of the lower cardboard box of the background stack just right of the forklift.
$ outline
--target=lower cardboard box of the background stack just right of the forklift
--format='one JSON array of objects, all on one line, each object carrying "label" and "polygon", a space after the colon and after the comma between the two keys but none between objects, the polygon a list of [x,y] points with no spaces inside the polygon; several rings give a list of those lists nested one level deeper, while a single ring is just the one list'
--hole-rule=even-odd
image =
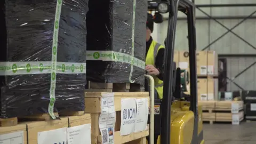
[{"label": "lower cardboard box of the background stack just right of the forklift", "polygon": [[198,100],[218,99],[218,79],[198,78],[197,79]]}]

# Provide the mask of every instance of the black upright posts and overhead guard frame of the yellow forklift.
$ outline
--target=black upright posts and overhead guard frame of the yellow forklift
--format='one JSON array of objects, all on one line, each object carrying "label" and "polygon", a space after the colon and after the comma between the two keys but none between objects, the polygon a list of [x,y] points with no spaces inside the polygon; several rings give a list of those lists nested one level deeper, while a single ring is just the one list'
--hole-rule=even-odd
[{"label": "black upright posts and overhead guard frame of the yellow forklift", "polygon": [[191,143],[198,143],[198,108],[197,108],[197,75],[196,75],[196,30],[195,30],[195,4],[189,0],[155,0],[148,1],[148,11],[169,13],[166,47],[164,55],[164,90],[162,100],[161,119],[161,143],[170,143],[171,127],[171,101],[173,97],[172,76],[175,31],[177,25],[178,11],[187,15],[188,23],[188,45],[189,45],[189,66],[190,66],[190,110],[194,112],[194,131]]}]

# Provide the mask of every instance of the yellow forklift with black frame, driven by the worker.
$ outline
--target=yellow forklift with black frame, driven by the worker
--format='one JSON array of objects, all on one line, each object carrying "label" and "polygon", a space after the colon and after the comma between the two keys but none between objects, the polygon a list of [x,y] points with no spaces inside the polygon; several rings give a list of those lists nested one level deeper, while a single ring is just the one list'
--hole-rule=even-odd
[{"label": "yellow forklift with black frame, driven by the worker", "polygon": [[[203,144],[202,106],[198,106],[197,100],[195,4],[189,0],[153,0],[148,1],[148,11],[157,11],[158,14],[169,13],[169,23],[165,45],[162,100],[154,98],[154,87],[152,86],[154,79],[146,75],[150,79],[151,86],[150,137],[147,139],[147,143]],[[189,98],[184,97],[185,94],[182,92],[182,86],[186,86],[188,83],[184,76],[188,77],[188,74],[183,74],[181,77],[181,73],[184,72],[173,62],[178,11],[187,15],[190,66]]]}]

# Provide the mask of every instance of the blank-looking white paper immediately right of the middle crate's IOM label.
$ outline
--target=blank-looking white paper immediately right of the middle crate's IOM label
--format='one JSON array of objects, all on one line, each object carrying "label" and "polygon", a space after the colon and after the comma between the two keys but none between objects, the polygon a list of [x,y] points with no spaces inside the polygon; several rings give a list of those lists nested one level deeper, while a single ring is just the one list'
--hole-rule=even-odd
[{"label": "blank-looking white paper immediately right of the middle crate's IOM label", "polygon": [[141,132],[146,130],[148,123],[148,99],[136,99],[137,116],[135,123],[135,132]]}]

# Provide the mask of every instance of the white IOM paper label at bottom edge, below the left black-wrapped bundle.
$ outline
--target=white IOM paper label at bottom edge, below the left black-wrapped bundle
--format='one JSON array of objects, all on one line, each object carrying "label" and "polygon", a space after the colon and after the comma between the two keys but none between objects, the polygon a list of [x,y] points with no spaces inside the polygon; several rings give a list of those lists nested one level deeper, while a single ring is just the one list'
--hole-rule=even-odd
[{"label": "white IOM paper label at bottom edge, below the left black-wrapped bundle", "polygon": [[37,133],[37,144],[67,144],[67,127]]}]

